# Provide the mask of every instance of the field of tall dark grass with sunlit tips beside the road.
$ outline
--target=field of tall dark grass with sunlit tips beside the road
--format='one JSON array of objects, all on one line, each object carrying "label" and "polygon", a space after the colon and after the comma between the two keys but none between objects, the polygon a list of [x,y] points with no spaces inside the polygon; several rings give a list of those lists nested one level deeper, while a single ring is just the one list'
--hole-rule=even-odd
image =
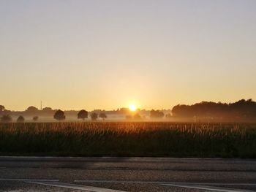
[{"label": "field of tall dark grass with sunlit tips beside the road", "polygon": [[256,124],[0,123],[0,155],[256,158]]}]

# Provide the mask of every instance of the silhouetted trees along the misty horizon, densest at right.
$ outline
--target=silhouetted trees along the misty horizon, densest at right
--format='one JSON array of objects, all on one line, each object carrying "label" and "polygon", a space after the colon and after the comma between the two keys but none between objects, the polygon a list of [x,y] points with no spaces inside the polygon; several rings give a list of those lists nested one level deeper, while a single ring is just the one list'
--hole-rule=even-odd
[{"label": "silhouetted trees along the misty horizon, densest at right", "polygon": [[[0,105],[0,115],[2,122],[10,122],[12,121],[10,115],[11,111],[6,110],[3,105]],[[75,111],[65,111],[72,112],[72,114],[77,115],[78,119],[85,120],[89,118],[89,112],[86,110],[80,110],[79,112]],[[19,118],[17,122],[23,122],[23,114],[25,115],[37,115],[34,116],[33,120],[38,120],[38,115],[53,115],[53,118],[56,120],[64,120],[66,118],[65,112],[61,110],[52,110],[50,107],[45,107],[42,110],[38,110],[36,107],[28,107],[22,114],[16,113]],[[244,121],[255,121],[256,120],[256,102],[252,101],[252,99],[241,99],[239,101],[233,103],[221,103],[221,102],[212,102],[212,101],[202,101],[197,104],[186,105],[186,104],[178,104],[173,107],[171,113],[162,112],[160,110],[138,110],[136,112],[130,112],[127,108],[121,108],[120,110],[113,111],[118,112],[118,115],[125,115],[127,120],[143,120],[148,117],[157,120],[166,118],[168,120],[226,120],[226,121],[236,121],[236,120],[244,120]],[[120,113],[120,114],[119,114]],[[108,113],[112,114],[112,113]],[[70,113],[68,113],[70,115]],[[102,110],[94,110],[90,113],[91,120],[97,120],[98,118],[102,118],[105,120],[107,115],[105,111]]]}]

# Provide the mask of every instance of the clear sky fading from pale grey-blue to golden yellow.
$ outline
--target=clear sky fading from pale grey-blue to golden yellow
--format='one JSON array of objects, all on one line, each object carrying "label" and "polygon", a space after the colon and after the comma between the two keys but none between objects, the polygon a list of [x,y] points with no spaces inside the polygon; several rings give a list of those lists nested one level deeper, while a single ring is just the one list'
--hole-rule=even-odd
[{"label": "clear sky fading from pale grey-blue to golden yellow", "polygon": [[256,99],[255,0],[1,0],[0,104]]}]

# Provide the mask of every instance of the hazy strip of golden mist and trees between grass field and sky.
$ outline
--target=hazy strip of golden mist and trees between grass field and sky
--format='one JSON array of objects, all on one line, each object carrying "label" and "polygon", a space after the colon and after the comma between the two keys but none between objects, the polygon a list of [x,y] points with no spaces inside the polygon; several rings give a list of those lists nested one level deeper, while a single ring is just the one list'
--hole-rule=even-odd
[{"label": "hazy strip of golden mist and trees between grass field and sky", "polygon": [[[60,113],[60,114],[59,114]],[[56,118],[56,115],[60,118]],[[108,120],[108,121],[172,121],[172,122],[249,122],[256,121],[256,102],[252,99],[241,99],[234,103],[214,103],[202,101],[197,104],[178,104],[172,110],[140,110],[132,108],[118,108],[117,110],[53,110],[44,107],[28,107],[27,110],[15,112],[0,105],[2,122],[15,122],[21,118],[22,122],[55,122],[78,120]],[[7,118],[10,118],[9,120]],[[6,118],[6,119],[4,119]]]}]

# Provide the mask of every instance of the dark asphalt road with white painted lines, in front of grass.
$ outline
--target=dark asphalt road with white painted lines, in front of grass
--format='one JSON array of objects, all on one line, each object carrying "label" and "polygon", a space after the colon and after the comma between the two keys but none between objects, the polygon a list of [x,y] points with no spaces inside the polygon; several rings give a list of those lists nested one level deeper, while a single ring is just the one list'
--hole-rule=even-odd
[{"label": "dark asphalt road with white painted lines, in front of grass", "polygon": [[256,191],[256,161],[0,157],[0,191]]}]

